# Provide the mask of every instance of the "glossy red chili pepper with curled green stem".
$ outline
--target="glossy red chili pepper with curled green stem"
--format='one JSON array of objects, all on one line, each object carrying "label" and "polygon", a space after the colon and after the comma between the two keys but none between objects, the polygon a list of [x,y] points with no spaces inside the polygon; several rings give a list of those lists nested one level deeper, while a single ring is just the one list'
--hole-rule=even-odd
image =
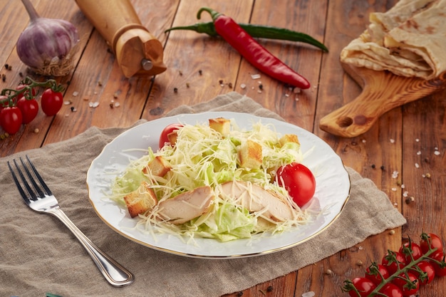
[{"label": "glossy red chili pepper with curled green stem", "polygon": [[197,13],[200,19],[202,11],[207,11],[212,16],[217,33],[235,48],[249,63],[272,78],[301,89],[310,88],[310,83],[299,73],[286,66],[272,53],[261,46],[244,31],[233,19],[217,11],[202,7]]}]

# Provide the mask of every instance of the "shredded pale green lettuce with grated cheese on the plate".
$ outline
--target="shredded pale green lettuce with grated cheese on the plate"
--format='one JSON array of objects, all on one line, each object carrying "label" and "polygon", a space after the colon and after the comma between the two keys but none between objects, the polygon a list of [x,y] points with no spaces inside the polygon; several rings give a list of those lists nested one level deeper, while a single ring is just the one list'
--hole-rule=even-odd
[{"label": "shredded pale green lettuce with grated cheese on the plate", "polygon": [[[281,165],[301,162],[300,145],[295,142],[281,145],[279,143],[281,135],[272,125],[253,123],[251,130],[242,130],[234,120],[231,121],[232,128],[229,135],[222,135],[207,124],[187,124],[177,130],[175,146],[165,145],[157,152],[153,152],[149,147],[147,155],[130,162],[125,171],[116,177],[111,187],[110,198],[122,203],[123,197],[137,189],[142,181],[151,184],[159,201],[202,186],[212,187],[218,197],[219,185],[229,181],[252,182],[286,196],[286,190],[271,184],[271,179],[275,170]],[[260,168],[244,168],[239,164],[239,148],[247,140],[253,140],[261,145],[263,158]],[[163,157],[172,166],[164,177],[152,176],[150,172],[142,173],[142,169],[156,156]],[[147,232],[149,228],[147,226],[150,226],[151,233],[155,229],[160,233],[212,238],[219,241],[250,238],[253,234],[264,231],[284,231],[291,226],[305,224],[308,219],[306,214],[296,207],[299,216],[294,222],[265,224],[261,213],[250,213],[248,209],[234,202],[234,199],[222,199],[222,197],[214,199],[209,212],[185,224],[174,226],[169,222],[163,222],[156,218],[155,212],[139,217],[139,226]]]}]

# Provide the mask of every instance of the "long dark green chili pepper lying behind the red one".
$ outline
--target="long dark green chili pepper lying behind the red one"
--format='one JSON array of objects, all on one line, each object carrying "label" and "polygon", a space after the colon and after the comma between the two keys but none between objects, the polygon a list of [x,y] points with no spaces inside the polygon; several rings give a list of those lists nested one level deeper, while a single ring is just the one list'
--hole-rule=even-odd
[{"label": "long dark green chili pepper lying behind the red one", "polygon": [[[311,44],[317,48],[321,48],[322,51],[328,52],[328,48],[323,43],[317,41],[315,38],[309,36],[306,33],[292,31],[286,28],[278,28],[274,26],[261,26],[252,24],[239,24],[240,27],[247,31],[247,33],[254,38],[267,38],[286,41],[300,41]],[[168,28],[165,33],[172,30],[190,30],[197,33],[206,33],[209,36],[219,36],[215,31],[214,23],[212,21],[208,23],[197,23],[190,26],[179,26]]]}]

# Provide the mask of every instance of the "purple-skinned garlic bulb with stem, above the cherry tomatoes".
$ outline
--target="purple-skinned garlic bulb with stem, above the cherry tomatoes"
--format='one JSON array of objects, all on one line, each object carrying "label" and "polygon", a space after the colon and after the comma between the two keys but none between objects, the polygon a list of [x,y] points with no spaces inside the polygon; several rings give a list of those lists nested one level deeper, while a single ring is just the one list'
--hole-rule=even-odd
[{"label": "purple-skinned garlic bulb with stem, above the cherry tomatoes", "polygon": [[22,0],[31,19],[17,41],[17,54],[36,73],[63,76],[73,69],[79,41],[76,26],[61,19],[41,18],[29,0]]}]

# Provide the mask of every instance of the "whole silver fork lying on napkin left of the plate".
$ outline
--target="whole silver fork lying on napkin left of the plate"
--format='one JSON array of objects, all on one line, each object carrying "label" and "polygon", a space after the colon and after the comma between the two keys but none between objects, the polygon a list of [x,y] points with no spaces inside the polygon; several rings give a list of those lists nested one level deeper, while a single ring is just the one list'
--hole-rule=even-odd
[{"label": "whole silver fork lying on napkin left of the plate", "polygon": [[16,182],[17,189],[19,189],[21,197],[24,199],[25,203],[28,204],[28,207],[31,207],[31,209],[35,210],[36,212],[52,214],[54,217],[60,219],[63,224],[65,224],[68,229],[73,232],[74,236],[81,241],[81,244],[85,250],[88,252],[88,254],[90,254],[91,259],[93,259],[96,266],[98,266],[99,271],[112,286],[128,286],[130,283],[133,283],[135,279],[133,273],[125,269],[123,266],[118,264],[118,262],[111,259],[110,256],[101,251],[98,246],[95,246],[95,244],[93,244],[93,242],[90,241],[90,239],[88,239],[88,237],[85,236],[85,234],[83,234],[81,230],[79,230],[78,227],[71,222],[70,219],[68,219],[66,214],[59,207],[56,197],[53,196],[51,190],[48,188],[45,182],[43,182],[41,175],[38,174],[36,167],[34,167],[28,156],[26,155],[28,165],[25,164],[21,157],[19,159],[21,162],[21,167],[23,167],[29,182],[32,184],[31,187],[29,182],[26,180],[24,172],[20,169],[18,162],[14,160],[16,172],[18,172],[26,192],[24,188],[21,187],[21,183],[19,182],[19,179],[17,178],[17,175],[11,167],[9,161],[8,167],[11,171],[14,182]]}]

